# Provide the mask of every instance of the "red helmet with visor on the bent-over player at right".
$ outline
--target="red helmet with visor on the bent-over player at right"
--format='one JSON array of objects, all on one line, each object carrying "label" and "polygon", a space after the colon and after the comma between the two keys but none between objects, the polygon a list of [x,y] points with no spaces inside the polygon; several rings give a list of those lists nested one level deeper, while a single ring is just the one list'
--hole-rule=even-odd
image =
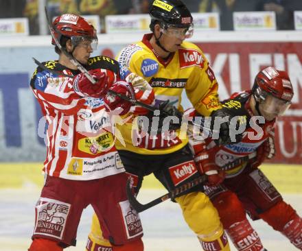
[{"label": "red helmet with visor on the bent-over player at right", "polygon": [[256,75],[252,92],[264,111],[276,116],[290,107],[294,95],[288,73],[275,67],[267,67]]}]

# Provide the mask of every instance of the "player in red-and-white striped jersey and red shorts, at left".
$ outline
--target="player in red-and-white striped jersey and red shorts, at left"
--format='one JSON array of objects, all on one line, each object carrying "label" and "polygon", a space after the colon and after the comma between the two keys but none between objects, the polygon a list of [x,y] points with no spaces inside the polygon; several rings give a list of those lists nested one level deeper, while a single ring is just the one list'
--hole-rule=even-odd
[{"label": "player in red-and-white striped jersey and red shorts, at left", "polygon": [[35,208],[29,250],[62,251],[75,246],[82,211],[90,204],[102,222],[104,237],[111,241],[111,250],[142,251],[143,230],[126,197],[128,175],[115,148],[111,116],[115,108],[120,115],[130,110],[135,115],[136,106],[107,91],[150,104],[152,88],[143,77],[120,67],[112,58],[90,57],[97,37],[93,25],[81,16],[62,14],[53,29],[58,44],[55,39],[52,44],[59,58],[43,62],[30,82],[49,125],[45,185]]}]

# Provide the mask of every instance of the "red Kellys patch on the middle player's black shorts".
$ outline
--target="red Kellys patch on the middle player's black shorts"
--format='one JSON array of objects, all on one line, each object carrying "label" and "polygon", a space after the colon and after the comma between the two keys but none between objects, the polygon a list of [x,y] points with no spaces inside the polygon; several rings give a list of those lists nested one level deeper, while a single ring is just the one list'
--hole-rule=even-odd
[{"label": "red Kellys patch on the middle player's black shorts", "polygon": [[190,160],[185,163],[170,167],[169,172],[174,185],[178,185],[179,183],[183,182],[183,180],[187,180],[187,178],[196,174],[197,169],[194,161]]}]

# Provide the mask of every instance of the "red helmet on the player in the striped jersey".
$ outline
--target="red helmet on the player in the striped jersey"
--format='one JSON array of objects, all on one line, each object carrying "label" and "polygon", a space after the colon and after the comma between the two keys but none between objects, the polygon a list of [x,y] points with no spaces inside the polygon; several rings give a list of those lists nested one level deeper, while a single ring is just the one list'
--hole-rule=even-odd
[{"label": "red helmet on the player in the striped jersey", "polygon": [[[59,43],[62,36],[71,39],[74,46],[79,45],[82,41],[89,40],[93,50],[97,49],[97,34],[93,25],[88,23],[82,16],[75,14],[62,14],[52,23],[54,34]],[[52,45],[56,45],[54,38],[51,40]]]}]

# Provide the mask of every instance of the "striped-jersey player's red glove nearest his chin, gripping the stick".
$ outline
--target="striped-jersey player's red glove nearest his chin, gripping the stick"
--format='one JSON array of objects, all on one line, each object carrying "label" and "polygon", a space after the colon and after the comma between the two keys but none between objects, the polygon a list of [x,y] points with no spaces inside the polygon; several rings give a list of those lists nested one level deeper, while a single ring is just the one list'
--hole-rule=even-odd
[{"label": "striped-jersey player's red glove nearest his chin, gripping the stick", "polygon": [[108,88],[108,77],[100,69],[89,71],[97,82],[92,84],[84,73],[75,75],[72,80],[73,89],[81,97],[104,97]]}]

